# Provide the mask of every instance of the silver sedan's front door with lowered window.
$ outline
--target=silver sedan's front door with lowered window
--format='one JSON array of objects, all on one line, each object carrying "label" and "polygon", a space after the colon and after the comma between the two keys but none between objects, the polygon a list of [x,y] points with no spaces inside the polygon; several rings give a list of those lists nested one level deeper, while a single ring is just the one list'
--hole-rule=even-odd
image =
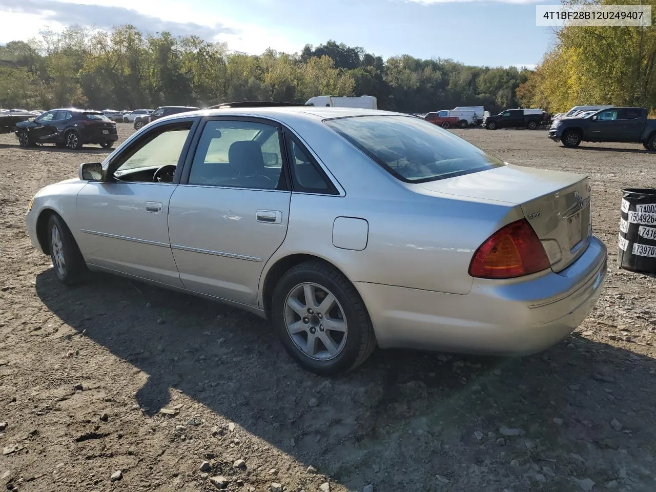
[{"label": "silver sedan's front door with lowered window", "polygon": [[88,263],[182,287],[167,215],[192,123],[152,129],[110,162],[110,180],[89,182],[79,192],[75,236]]}]

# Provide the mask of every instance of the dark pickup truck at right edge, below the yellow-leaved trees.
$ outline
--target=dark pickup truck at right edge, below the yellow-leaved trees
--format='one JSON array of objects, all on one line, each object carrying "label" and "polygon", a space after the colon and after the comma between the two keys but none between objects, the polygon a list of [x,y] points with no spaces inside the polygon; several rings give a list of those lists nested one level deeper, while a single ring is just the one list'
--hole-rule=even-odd
[{"label": "dark pickup truck at right edge, below the yellow-leaved trees", "polygon": [[609,108],[582,118],[560,118],[548,136],[565,147],[578,147],[581,142],[634,142],[656,150],[656,119],[647,119],[645,108]]}]

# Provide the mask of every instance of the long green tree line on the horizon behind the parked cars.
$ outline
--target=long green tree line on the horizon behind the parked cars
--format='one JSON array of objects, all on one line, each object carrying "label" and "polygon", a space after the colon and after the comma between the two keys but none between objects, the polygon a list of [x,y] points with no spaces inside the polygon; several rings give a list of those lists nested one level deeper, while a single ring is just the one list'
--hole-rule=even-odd
[{"label": "long green tree line on the horizon behind the parked cars", "polygon": [[0,107],[122,110],[367,94],[378,98],[379,108],[400,112],[455,106],[499,112],[518,106],[516,90],[529,75],[516,67],[467,66],[408,54],[384,60],[335,41],[306,45],[300,53],[268,49],[256,56],[193,35],[70,26],[0,46]]}]

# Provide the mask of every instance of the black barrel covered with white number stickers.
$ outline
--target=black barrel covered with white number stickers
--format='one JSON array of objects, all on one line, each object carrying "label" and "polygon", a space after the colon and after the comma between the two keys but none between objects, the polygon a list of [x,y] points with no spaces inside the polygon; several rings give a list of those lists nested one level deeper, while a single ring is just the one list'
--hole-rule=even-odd
[{"label": "black barrel covered with white number stickers", "polygon": [[617,263],[634,272],[656,274],[656,190],[622,190]]}]

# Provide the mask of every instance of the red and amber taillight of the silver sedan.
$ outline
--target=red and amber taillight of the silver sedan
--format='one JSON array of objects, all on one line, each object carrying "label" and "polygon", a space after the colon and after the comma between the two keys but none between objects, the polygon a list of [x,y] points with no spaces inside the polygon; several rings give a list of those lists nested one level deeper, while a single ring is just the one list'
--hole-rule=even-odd
[{"label": "red and amber taillight of the silver sedan", "polygon": [[549,258],[525,218],[502,227],[474,253],[469,274],[480,278],[512,278],[549,268]]}]

